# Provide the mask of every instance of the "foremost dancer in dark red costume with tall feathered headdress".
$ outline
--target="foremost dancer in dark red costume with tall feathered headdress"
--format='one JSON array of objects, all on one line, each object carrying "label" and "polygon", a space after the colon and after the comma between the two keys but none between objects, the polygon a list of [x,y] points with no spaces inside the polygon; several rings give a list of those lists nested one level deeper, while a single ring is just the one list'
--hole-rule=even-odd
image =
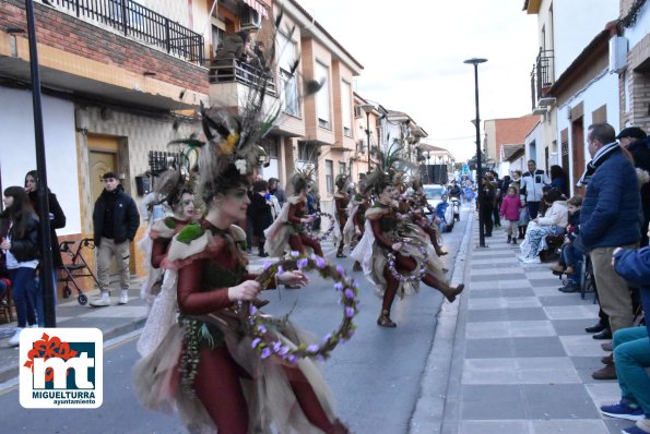
[{"label": "foremost dancer in dark red costume with tall feathered headdress", "polygon": [[[260,357],[246,333],[249,316],[240,303],[275,282],[306,285],[307,277],[277,269],[274,280],[262,284],[248,273],[246,236],[235,222],[246,217],[249,177],[264,156],[255,143],[263,131],[202,114],[209,143],[200,155],[199,189],[206,215],[174,237],[164,260],[178,274],[180,316],[137,363],[137,396],[150,409],[176,408],[192,433],[267,433],[271,425],[282,433],[347,433],[310,358],[289,363],[275,353]],[[272,328],[265,334],[287,349],[305,342],[288,321]]]}]

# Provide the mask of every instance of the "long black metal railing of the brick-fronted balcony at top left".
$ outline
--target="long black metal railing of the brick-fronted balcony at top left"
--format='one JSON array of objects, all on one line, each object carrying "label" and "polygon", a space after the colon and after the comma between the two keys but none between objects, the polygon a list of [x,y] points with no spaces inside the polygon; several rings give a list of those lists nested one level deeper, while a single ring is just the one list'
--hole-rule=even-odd
[{"label": "long black metal railing of the brick-fronted balcony at top left", "polygon": [[107,25],[172,56],[203,63],[203,37],[133,0],[49,0],[78,17]]}]

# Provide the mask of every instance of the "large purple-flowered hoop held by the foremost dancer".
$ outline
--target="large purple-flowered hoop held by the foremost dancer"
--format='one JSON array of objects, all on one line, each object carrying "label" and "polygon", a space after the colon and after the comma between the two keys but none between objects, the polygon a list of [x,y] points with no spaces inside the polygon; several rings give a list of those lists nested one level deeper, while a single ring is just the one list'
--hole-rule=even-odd
[{"label": "large purple-flowered hoop held by the foremost dancer", "polygon": [[276,275],[281,275],[284,272],[296,269],[318,272],[321,277],[334,280],[334,289],[339,296],[339,302],[343,306],[343,321],[341,325],[336,330],[323,336],[318,343],[309,346],[299,345],[298,347],[287,346],[268,329],[268,326],[282,325],[286,322],[286,318],[279,320],[262,315],[250,302],[245,302],[241,303],[243,309],[240,312],[248,316],[247,334],[252,339],[251,347],[262,359],[276,355],[292,364],[297,363],[304,358],[326,360],[341,341],[348,340],[354,335],[356,326],[352,320],[358,312],[359,303],[357,299],[357,285],[345,274],[343,267],[330,265],[320,256],[299,256],[297,252],[292,252],[291,255],[291,260],[265,265],[264,270],[258,276],[257,281],[263,287],[272,282]]}]

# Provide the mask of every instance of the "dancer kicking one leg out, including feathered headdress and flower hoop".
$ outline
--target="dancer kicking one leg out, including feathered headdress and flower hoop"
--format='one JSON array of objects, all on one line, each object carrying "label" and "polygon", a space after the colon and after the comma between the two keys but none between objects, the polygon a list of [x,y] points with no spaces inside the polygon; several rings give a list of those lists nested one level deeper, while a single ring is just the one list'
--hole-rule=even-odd
[{"label": "dancer kicking one leg out, including feathered headdress and flower hoop", "polygon": [[362,263],[367,279],[382,293],[377,325],[397,327],[390,318],[390,309],[398,293],[403,297],[417,291],[423,281],[453,302],[464,285],[449,286],[441,268],[430,257],[434,249],[427,243],[427,237],[416,226],[404,224],[404,217],[397,212],[395,170],[390,154],[385,167],[388,172],[378,168],[366,179],[367,189],[374,190],[377,202],[366,212],[364,237],[352,257]]}]

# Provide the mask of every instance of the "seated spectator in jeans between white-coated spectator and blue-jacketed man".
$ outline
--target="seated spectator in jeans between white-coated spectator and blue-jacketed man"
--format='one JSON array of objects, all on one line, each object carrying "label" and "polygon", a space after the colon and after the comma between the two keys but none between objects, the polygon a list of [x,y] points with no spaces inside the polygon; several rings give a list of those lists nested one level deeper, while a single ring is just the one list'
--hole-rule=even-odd
[{"label": "seated spectator in jeans between white-coated spectator and blue-jacketed man", "polygon": [[562,292],[577,292],[580,290],[579,273],[582,268],[583,252],[574,244],[574,240],[580,233],[580,207],[582,206],[582,196],[577,194],[567,201],[569,210],[569,226],[564,244],[562,245],[560,262],[551,266],[554,272],[567,275],[567,284],[558,288]]}]

